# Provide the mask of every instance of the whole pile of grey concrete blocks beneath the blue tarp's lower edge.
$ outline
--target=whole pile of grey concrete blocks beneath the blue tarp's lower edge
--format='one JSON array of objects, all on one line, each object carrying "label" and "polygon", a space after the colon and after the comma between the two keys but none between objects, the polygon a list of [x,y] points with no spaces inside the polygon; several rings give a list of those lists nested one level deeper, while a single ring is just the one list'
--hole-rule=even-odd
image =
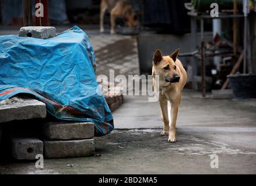
[{"label": "whole pile of grey concrete blocks beneath the blue tarp's lower edge", "polygon": [[[0,102],[0,116],[1,134],[2,126],[11,125],[10,121],[15,120],[20,126],[29,119],[46,117],[46,108],[43,102],[36,99],[15,97]],[[19,123],[19,120],[22,121]],[[93,123],[80,121],[45,122],[42,119],[39,123],[33,123],[33,125],[40,126],[41,133],[39,135],[32,133],[27,136],[35,137],[26,137],[24,131],[17,128],[14,128],[15,134],[9,134],[10,153],[13,158],[34,160],[36,155],[44,155],[44,158],[72,158],[94,155]]]}]

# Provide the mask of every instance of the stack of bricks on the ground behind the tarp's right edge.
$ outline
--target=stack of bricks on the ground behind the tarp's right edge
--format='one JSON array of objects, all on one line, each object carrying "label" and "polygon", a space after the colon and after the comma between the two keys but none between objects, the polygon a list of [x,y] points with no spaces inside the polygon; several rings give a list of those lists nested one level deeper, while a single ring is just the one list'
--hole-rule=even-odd
[{"label": "stack of bricks on the ground behind the tarp's right edge", "polygon": [[[117,110],[122,103],[124,103],[124,95],[122,94],[122,86],[115,85],[114,83],[104,82],[101,80],[97,80],[101,90],[103,91],[103,95],[106,99],[108,107],[111,112]],[[107,89],[104,87],[108,87]]]}]

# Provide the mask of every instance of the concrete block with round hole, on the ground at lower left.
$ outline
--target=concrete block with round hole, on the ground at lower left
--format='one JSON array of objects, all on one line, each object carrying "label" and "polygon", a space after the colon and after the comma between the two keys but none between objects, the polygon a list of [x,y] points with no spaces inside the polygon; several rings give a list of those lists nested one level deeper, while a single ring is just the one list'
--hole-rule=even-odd
[{"label": "concrete block with round hole, on the ground at lower left", "polygon": [[43,155],[43,141],[36,138],[12,138],[12,157],[18,160],[34,160]]}]

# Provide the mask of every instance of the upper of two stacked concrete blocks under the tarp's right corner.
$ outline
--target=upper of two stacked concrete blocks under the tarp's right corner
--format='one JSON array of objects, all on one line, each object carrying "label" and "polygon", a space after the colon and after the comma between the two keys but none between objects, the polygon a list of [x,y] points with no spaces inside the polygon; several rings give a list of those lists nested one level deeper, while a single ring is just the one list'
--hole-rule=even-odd
[{"label": "upper of two stacked concrete blocks under the tarp's right corner", "polygon": [[43,124],[47,140],[79,140],[94,137],[94,124],[86,122],[49,122]]}]

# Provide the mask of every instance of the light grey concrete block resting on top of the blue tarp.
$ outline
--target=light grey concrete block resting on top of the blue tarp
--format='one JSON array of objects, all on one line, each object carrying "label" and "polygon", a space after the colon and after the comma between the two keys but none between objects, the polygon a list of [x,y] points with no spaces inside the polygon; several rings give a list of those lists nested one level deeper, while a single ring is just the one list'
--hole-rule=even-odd
[{"label": "light grey concrete block resting on top of the blue tarp", "polygon": [[55,37],[55,27],[22,27],[19,31],[19,37],[33,37],[39,39],[47,39]]}]

